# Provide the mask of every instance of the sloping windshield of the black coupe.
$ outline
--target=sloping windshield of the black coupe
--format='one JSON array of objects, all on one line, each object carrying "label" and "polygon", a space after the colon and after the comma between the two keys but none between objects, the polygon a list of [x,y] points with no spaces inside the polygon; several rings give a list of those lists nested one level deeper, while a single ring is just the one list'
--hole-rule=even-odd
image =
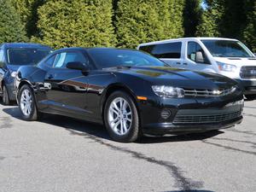
[{"label": "sloping windshield of the black coupe", "polygon": [[100,68],[132,67],[132,66],[160,66],[166,64],[154,56],[131,49],[88,49],[89,54]]}]

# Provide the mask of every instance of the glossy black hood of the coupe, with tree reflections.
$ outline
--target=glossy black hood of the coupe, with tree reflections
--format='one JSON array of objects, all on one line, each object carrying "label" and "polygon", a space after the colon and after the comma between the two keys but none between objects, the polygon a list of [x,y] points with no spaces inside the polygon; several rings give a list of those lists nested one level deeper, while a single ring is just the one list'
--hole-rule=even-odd
[{"label": "glossy black hood of the coupe, with tree reflections", "polygon": [[187,89],[228,89],[236,81],[215,73],[201,73],[172,67],[131,67],[116,69],[145,79],[151,84],[170,85]]}]

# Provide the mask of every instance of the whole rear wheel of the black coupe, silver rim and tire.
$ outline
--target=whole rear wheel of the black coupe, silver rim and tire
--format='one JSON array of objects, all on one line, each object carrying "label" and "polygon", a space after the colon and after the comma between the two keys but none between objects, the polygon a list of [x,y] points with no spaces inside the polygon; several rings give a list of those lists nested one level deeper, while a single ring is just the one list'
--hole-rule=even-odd
[{"label": "whole rear wheel of the black coupe, silver rim and tire", "polygon": [[38,119],[38,109],[32,89],[28,84],[24,84],[19,91],[19,108],[22,119],[32,121]]}]

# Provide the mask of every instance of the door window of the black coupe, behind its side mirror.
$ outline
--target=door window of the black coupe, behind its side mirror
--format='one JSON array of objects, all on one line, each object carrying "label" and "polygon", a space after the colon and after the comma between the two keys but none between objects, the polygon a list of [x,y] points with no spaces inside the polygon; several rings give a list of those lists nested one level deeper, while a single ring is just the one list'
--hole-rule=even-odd
[{"label": "door window of the black coupe, behind its side mirror", "polygon": [[68,62],[79,61],[84,64],[88,63],[87,58],[81,52],[62,52],[56,55],[54,65],[55,68],[66,68]]}]

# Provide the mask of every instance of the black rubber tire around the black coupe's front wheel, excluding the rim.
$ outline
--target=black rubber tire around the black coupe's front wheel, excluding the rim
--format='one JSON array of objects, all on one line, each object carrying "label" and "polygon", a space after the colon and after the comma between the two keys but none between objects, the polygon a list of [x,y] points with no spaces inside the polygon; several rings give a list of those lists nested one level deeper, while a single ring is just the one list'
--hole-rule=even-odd
[{"label": "black rubber tire around the black coupe's front wheel, excluding the rim", "polygon": [[[111,103],[116,99],[121,97],[126,102],[129,103],[129,108],[131,108],[131,124],[130,128],[127,129],[128,131],[125,133],[125,135],[119,135],[113,129],[111,128],[110,122],[108,120]],[[126,121],[127,122],[127,121]],[[131,99],[131,96],[129,96],[124,91],[115,91],[110,96],[108,96],[107,102],[105,104],[104,108],[104,123],[108,130],[108,133],[110,137],[113,138],[114,141],[121,142],[121,143],[131,143],[135,142],[139,137],[141,137],[141,130],[139,127],[139,116],[137,113],[137,107],[135,105],[135,102]]]}]

